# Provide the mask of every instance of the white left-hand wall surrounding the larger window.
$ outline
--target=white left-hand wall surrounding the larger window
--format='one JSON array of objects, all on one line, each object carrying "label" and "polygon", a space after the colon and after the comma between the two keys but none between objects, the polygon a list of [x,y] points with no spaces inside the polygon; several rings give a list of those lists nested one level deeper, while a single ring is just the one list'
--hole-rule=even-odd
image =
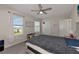
[{"label": "white left-hand wall surrounding the larger window", "polygon": [[[26,26],[26,22],[28,20],[32,21],[33,23],[33,18],[29,17],[27,15],[23,15],[22,13],[18,12],[18,11],[13,11],[11,10],[11,12],[15,12],[18,13],[20,15],[24,16],[24,33],[23,35],[19,35],[19,36],[14,36],[13,34],[13,29],[12,29],[12,20],[11,20],[11,13],[8,13],[10,9],[8,8],[3,8],[0,7],[0,39],[5,40],[5,48],[10,47],[12,45],[15,45],[17,43],[23,42],[25,41],[27,38],[27,32],[34,32],[34,27],[27,27]],[[33,24],[30,24],[33,25]]]}]

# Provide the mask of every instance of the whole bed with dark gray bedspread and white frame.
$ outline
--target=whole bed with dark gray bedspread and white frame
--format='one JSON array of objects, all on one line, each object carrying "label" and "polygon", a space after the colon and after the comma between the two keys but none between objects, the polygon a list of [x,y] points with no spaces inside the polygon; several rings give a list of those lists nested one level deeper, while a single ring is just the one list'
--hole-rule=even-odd
[{"label": "whole bed with dark gray bedspread and white frame", "polygon": [[68,41],[66,40],[71,39],[40,35],[27,40],[26,45],[29,50],[36,54],[79,54],[79,51],[73,47],[70,47],[67,44]]}]

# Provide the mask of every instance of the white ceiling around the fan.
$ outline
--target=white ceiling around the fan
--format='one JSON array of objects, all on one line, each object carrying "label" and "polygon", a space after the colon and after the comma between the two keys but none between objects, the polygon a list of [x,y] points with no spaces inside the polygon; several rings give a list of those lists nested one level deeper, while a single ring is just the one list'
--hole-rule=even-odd
[{"label": "white ceiling around the fan", "polygon": [[73,4],[42,4],[43,8],[52,8],[51,11],[47,11],[47,15],[37,15],[37,12],[32,12],[31,10],[37,10],[37,4],[9,4],[5,5],[9,8],[15,9],[17,11],[29,14],[36,18],[47,18],[47,17],[57,17],[57,16],[67,16],[70,15],[73,10]]}]

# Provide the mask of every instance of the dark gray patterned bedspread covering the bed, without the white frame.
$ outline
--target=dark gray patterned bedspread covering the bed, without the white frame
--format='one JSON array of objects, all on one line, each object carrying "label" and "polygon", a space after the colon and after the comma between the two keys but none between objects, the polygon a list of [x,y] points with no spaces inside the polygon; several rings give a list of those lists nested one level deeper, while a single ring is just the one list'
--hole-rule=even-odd
[{"label": "dark gray patterned bedspread covering the bed, without the white frame", "polygon": [[27,40],[48,52],[55,54],[79,54],[75,49],[67,47],[64,37],[40,35]]}]

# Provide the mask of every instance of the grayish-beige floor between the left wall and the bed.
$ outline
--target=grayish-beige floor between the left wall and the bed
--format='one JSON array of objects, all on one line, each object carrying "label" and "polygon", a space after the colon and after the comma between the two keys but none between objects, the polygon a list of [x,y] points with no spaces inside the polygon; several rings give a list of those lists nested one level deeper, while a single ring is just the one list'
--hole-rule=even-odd
[{"label": "grayish-beige floor between the left wall and the bed", "polygon": [[29,51],[26,49],[25,42],[23,42],[5,49],[2,54],[28,54],[28,52]]}]

